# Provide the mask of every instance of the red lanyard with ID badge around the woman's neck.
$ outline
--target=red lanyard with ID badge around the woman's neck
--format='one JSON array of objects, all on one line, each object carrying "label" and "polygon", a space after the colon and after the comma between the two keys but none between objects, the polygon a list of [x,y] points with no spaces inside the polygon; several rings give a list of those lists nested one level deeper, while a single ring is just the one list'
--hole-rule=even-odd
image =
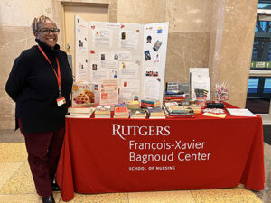
[{"label": "red lanyard with ID badge around the woman's neck", "polygon": [[[38,48],[39,50],[42,52],[43,56],[45,57],[45,59],[50,63],[51,65],[51,61],[48,59],[46,53],[44,53],[44,51],[42,51],[42,47],[40,45],[38,45]],[[65,97],[63,97],[61,95],[61,68],[60,68],[60,63],[59,63],[59,60],[58,58],[56,57],[55,60],[57,61],[57,64],[58,64],[58,72],[55,71],[55,69],[53,69],[52,65],[51,65],[51,69],[53,70],[56,78],[57,78],[57,81],[58,81],[58,86],[59,86],[59,97],[56,99],[56,103],[57,105],[60,107],[64,104],[66,104],[66,99]]]}]

